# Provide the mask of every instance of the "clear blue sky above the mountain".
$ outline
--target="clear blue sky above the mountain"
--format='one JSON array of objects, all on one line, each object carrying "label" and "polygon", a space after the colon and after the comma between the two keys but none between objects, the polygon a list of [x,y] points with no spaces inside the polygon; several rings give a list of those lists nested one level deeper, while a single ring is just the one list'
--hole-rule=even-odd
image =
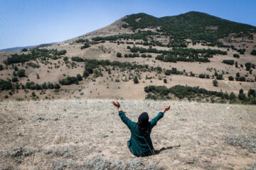
[{"label": "clear blue sky above the mountain", "polygon": [[0,49],[60,42],[132,13],[200,11],[256,26],[256,0],[0,0]]}]

